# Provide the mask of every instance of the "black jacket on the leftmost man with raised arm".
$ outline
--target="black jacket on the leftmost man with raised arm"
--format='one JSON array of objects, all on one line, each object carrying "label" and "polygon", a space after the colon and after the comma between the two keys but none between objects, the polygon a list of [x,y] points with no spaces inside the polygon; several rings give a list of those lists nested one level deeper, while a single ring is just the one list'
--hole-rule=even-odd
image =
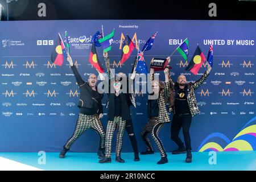
[{"label": "black jacket on the leftmost man with raised arm", "polygon": [[104,95],[97,92],[97,96],[93,96],[92,88],[89,86],[88,82],[85,82],[84,80],[82,80],[79,72],[76,69],[76,66],[73,65],[73,67],[71,68],[80,89],[80,99],[79,99],[79,104],[77,106],[80,108],[86,107],[88,109],[93,109],[98,114],[103,113],[101,100],[104,97]]}]

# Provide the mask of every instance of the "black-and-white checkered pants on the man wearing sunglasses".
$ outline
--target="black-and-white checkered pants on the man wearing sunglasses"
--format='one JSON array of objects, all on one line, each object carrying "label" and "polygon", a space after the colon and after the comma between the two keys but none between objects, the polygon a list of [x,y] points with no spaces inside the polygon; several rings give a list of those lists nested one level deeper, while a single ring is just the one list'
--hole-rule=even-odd
[{"label": "black-and-white checkered pants on the man wearing sunglasses", "polygon": [[114,117],[113,121],[108,121],[108,126],[106,130],[106,151],[105,157],[111,157],[111,148],[112,148],[112,138],[115,129],[117,129],[117,144],[115,146],[115,156],[120,156],[123,142],[123,131],[125,131],[125,120],[122,120],[122,117]]}]

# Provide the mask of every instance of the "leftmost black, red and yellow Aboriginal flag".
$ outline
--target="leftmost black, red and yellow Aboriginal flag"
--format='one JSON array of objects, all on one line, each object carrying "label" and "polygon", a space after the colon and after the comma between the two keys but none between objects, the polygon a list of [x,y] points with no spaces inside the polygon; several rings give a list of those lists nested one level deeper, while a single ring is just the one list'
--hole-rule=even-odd
[{"label": "leftmost black, red and yellow Aboriginal flag", "polygon": [[61,66],[64,59],[67,59],[67,51],[59,33],[54,48],[52,50],[51,61],[52,63]]}]

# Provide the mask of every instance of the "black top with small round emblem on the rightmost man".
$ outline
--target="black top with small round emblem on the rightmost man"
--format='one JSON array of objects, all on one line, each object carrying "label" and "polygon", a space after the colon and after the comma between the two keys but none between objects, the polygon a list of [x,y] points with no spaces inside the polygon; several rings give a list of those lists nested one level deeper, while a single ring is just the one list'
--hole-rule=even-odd
[{"label": "black top with small round emblem on the rightmost man", "polygon": [[175,114],[190,113],[185,89],[179,89],[175,98]]}]

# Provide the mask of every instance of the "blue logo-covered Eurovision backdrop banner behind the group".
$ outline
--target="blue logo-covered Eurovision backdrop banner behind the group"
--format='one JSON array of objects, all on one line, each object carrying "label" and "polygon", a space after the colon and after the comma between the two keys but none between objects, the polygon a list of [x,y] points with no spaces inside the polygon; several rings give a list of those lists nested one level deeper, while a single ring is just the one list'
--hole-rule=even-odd
[{"label": "blue logo-covered Eurovision backdrop banner behind the group", "polygon": [[[256,22],[49,20],[0,22],[1,152],[61,150],[75,129],[80,93],[68,62],[64,61],[62,67],[52,64],[51,51],[58,33],[64,38],[64,32],[68,31],[70,54],[80,75],[87,80],[90,73],[97,73],[89,64],[90,41],[101,26],[105,35],[115,28],[113,47],[109,52],[110,64],[115,72],[130,73],[138,43],[142,47],[157,31],[152,49],[144,52],[147,67],[152,57],[166,58],[188,38],[188,61],[175,52],[171,57],[171,75],[175,81],[180,74],[184,74],[188,81],[196,81],[207,69],[207,62],[196,76],[185,71],[185,67],[197,44],[205,57],[210,44],[213,44],[212,71],[195,92],[201,113],[192,119],[193,151],[256,150]],[[136,49],[121,65],[119,60],[126,34],[133,40]],[[104,63],[101,47],[97,47],[97,53],[101,63]],[[163,80],[163,72],[159,74]],[[139,150],[143,151],[146,146],[139,133],[147,122],[147,94],[140,90],[136,93],[137,108],[132,108],[131,114]],[[102,101],[104,118],[101,119],[105,128],[106,100],[105,94]],[[160,131],[167,151],[177,147],[170,138],[170,125],[165,124]],[[98,135],[88,130],[73,144],[71,151],[96,152],[98,140]],[[132,151],[126,131],[122,151]]]}]

